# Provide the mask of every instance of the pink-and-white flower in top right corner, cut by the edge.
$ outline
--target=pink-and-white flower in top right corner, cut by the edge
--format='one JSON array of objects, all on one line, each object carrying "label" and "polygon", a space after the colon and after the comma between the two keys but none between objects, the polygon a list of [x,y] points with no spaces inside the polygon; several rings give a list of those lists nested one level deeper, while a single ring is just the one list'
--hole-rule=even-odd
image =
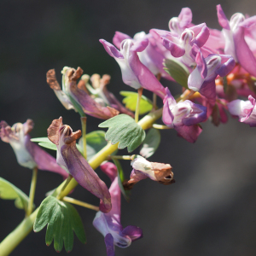
[{"label": "pink-and-white flower in top right corner, cut by the edge", "polygon": [[236,13],[229,21],[220,4],[217,5],[217,15],[219,25],[223,27],[224,53],[232,55],[241,67],[256,76],[256,59],[245,40],[245,33],[256,24],[256,16],[246,19],[244,15]]}]

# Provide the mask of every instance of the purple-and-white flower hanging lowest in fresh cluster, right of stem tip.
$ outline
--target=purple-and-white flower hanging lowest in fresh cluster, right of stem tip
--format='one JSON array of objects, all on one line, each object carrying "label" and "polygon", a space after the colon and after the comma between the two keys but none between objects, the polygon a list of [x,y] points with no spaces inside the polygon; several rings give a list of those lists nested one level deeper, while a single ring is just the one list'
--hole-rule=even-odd
[{"label": "purple-and-white flower hanging lowest in fresh cluster, right of stem tip", "polygon": [[197,124],[207,119],[207,108],[188,100],[177,103],[166,88],[162,119],[167,126],[174,128],[178,135],[189,143],[195,143],[201,133],[201,127]]}]

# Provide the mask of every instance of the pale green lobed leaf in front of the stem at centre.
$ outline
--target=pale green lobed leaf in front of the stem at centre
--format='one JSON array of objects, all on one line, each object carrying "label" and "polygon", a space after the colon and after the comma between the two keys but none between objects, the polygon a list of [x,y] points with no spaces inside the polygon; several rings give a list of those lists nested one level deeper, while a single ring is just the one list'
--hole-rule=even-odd
[{"label": "pale green lobed leaf in front of the stem at centre", "polygon": [[99,125],[108,127],[106,139],[112,144],[119,143],[119,149],[126,148],[128,152],[137,148],[145,138],[145,131],[131,116],[121,113]]}]

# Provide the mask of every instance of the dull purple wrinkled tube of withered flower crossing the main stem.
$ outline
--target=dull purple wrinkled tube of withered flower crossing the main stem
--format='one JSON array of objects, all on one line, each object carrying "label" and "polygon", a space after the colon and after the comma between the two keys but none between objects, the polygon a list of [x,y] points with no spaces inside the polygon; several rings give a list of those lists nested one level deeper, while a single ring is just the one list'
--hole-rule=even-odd
[{"label": "dull purple wrinkled tube of withered flower crossing the main stem", "polygon": [[74,179],[84,189],[87,189],[90,193],[101,199],[100,210],[102,212],[109,212],[111,210],[111,196],[108,188],[90,167],[82,154],[79,153],[75,143],[64,144],[61,147],[61,155]]}]

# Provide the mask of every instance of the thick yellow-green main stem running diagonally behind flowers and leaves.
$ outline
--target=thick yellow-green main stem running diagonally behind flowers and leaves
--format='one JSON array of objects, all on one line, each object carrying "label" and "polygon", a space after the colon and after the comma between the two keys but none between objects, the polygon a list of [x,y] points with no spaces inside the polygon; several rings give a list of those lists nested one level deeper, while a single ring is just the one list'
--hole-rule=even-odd
[{"label": "thick yellow-green main stem running diagonally behind flowers and leaves", "polygon": [[[157,119],[160,119],[161,115],[162,108],[154,112],[148,113],[148,115],[144,116],[143,119],[139,120],[138,125],[141,125],[143,130],[147,130],[148,128],[152,127]],[[106,160],[108,158],[108,155],[112,154],[117,148],[118,143],[114,145],[108,143],[106,147],[102,148],[101,151],[99,151],[94,157],[89,160],[89,164],[92,169],[95,170],[98,166],[100,166],[102,164],[102,161]],[[59,185],[59,187],[55,190],[53,196],[59,195],[60,198],[63,198],[78,185],[78,183],[74,179],[72,179],[70,183],[68,183],[66,189],[61,191],[64,183],[65,181],[61,183],[61,185]],[[0,243],[0,256],[9,255],[9,253],[11,253],[15,249],[15,247],[19,245],[20,241],[22,241],[32,231],[32,226],[36,219],[38,209],[32,212],[29,217],[25,218],[21,222],[21,224],[13,232],[11,232],[9,236],[6,236],[6,238]]]}]

